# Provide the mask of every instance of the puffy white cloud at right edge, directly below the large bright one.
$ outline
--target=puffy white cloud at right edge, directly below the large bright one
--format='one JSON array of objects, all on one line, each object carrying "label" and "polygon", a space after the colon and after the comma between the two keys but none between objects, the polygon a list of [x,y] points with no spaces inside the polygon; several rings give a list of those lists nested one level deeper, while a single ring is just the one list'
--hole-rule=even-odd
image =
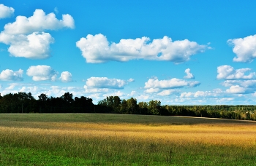
[{"label": "puffy white cloud at right edge, directly below the large bright one", "polygon": [[253,79],[256,76],[255,72],[245,75],[251,71],[251,68],[240,68],[235,70],[232,66],[219,66],[217,68],[217,79]]}]

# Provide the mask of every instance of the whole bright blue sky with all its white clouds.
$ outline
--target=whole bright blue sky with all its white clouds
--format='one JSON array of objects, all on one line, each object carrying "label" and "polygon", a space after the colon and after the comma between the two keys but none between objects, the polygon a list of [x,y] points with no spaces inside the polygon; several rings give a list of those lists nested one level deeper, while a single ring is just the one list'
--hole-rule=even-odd
[{"label": "whole bright blue sky with all its white clouds", "polygon": [[255,6],[0,0],[1,95],[255,105]]}]

